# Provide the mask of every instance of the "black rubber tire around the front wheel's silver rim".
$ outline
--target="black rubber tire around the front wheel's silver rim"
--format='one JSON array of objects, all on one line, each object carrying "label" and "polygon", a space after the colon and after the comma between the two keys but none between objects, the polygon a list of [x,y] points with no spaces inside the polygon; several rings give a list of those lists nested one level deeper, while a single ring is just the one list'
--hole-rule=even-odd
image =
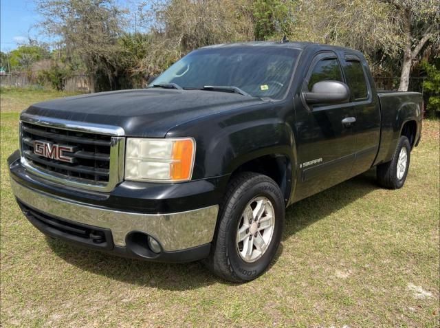
[{"label": "black rubber tire around the front wheel's silver rim", "polygon": [[[261,257],[249,263],[239,254],[236,234],[239,224],[243,224],[245,207],[256,197],[265,197],[270,201],[274,212],[274,230],[272,239],[267,243],[267,248],[260,255]],[[283,234],[284,217],[284,197],[276,182],[266,175],[240,173],[228,186],[228,192],[219,212],[217,233],[212,241],[210,257],[206,260],[206,265],[217,276],[234,283],[251,281],[260,276],[270,265],[278,250]],[[265,234],[265,230],[262,234]]]}]

